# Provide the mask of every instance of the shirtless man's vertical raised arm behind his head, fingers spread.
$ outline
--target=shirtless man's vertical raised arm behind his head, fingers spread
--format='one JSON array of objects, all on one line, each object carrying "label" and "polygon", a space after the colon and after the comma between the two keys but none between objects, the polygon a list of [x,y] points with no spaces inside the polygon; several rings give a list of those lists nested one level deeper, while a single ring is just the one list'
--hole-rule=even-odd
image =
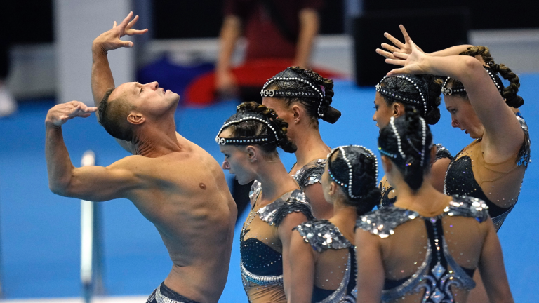
[{"label": "shirtless man's vertical raised arm behind his head, fingers spread", "polygon": [[[144,34],[148,29],[132,29],[133,25],[138,20],[138,15],[131,20],[133,12],[129,13],[127,17],[117,25],[114,21],[112,29],[100,34],[93,40],[92,43],[92,94],[95,106],[99,107],[105,92],[109,88],[114,88],[114,79],[112,78],[112,72],[109,67],[109,60],[107,53],[109,50],[115,50],[117,48],[133,47],[131,41],[121,41],[120,38],[128,35],[133,36],[135,34]],[[130,21],[131,20],[131,21]],[[99,118],[98,118],[99,119]]]}]

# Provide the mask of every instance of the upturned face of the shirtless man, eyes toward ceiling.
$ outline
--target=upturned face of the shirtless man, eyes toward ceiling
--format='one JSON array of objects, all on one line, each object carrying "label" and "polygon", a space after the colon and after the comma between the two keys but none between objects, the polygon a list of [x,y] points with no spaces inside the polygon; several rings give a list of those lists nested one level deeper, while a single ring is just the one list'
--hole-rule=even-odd
[{"label": "upturned face of the shirtless man, eyes toward ceiling", "polygon": [[136,106],[138,112],[155,117],[173,114],[180,101],[180,95],[160,88],[157,82],[127,82],[118,86],[109,98],[114,99],[121,95],[124,95],[131,105]]}]

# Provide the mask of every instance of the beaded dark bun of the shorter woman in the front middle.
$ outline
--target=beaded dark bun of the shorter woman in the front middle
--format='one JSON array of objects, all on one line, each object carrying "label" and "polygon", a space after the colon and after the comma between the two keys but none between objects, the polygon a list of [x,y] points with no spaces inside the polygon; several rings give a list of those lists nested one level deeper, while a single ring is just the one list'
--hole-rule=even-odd
[{"label": "beaded dark bun of the shorter woman in the front middle", "polygon": [[[341,149],[345,151],[345,157]],[[332,179],[339,185],[340,182],[346,184],[350,181],[346,184],[347,187],[341,185],[341,188],[347,196],[345,204],[354,206],[358,215],[368,213],[380,203],[382,195],[380,189],[376,187],[378,160],[370,150],[357,145],[338,147],[328,155],[327,166]],[[350,177],[350,167],[352,167],[352,177]],[[352,184],[351,187],[350,184]],[[354,197],[350,196],[349,189]]]}]

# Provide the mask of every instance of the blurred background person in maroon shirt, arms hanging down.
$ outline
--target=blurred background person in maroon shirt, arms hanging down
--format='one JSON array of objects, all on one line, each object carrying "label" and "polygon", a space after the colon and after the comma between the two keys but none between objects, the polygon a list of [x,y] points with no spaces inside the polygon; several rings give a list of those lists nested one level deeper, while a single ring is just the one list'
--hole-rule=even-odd
[{"label": "blurred background person in maroon shirt, arms hanging down", "polygon": [[243,32],[246,62],[281,59],[306,68],[318,33],[323,0],[225,0],[215,86],[221,95],[236,95],[230,59]]}]

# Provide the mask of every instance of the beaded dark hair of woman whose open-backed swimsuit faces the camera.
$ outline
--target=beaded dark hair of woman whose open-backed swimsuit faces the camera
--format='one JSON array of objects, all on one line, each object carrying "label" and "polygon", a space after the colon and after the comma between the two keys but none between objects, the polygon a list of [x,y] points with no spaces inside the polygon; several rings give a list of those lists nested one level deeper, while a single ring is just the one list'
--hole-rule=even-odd
[{"label": "beaded dark hair of woman whose open-backed swimsuit faces the camera", "polygon": [[413,191],[421,187],[423,175],[430,170],[431,147],[430,128],[415,109],[407,109],[399,118],[392,117],[378,137],[380,153],[399,168]]}]

